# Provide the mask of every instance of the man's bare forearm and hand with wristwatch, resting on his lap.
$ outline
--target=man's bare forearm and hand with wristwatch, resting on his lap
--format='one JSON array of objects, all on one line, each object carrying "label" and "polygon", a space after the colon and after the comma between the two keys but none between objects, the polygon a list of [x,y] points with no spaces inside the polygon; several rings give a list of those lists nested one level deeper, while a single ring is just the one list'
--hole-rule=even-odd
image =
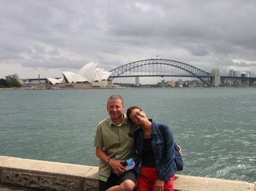
[{"label": "man's bare forearm and hand with wristwatch, resting on his lap", "polygon": [[102,148],[96,147],[96,156],[99,158],[99,160],[104,161],[104,163],[106,163],[106,161],[110,159],[108,161],[108,165],[110,165],[115,174],[123,174],[124,171],[126,171],[126,168],[121,165],[121,163],[123,163],[125,160],[120,161],[111,159],[110,157],[108,157],[108,155],[105,154],[104,151],[102,151]]}]

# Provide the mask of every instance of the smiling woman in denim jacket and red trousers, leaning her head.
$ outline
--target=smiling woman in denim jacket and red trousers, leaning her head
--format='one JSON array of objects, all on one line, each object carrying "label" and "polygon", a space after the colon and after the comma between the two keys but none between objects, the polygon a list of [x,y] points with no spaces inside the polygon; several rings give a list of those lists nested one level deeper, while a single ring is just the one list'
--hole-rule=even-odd
[{"label": "smiling woman in denim jacket and red trousers, leaning her head", "polygon": [[133,106],[127,109],[129,120],[136,129],[138,152],[135,170],[138,173],[138,189],[174,190],[174,141],[170,128],[163,123],[148,119],[143,109]]}]

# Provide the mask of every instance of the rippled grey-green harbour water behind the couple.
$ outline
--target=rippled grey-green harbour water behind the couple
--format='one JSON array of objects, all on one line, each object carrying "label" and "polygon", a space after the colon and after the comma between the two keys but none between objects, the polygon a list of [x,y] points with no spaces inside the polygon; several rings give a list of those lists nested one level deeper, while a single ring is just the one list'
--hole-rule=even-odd
[{"label": "rippled grey-green harbour water behind the couple", "polygon": [[0,91],[0,155],[98,166],[95,130],[112,94],[170,126],[178,174],[255,182],[256,88]]}]

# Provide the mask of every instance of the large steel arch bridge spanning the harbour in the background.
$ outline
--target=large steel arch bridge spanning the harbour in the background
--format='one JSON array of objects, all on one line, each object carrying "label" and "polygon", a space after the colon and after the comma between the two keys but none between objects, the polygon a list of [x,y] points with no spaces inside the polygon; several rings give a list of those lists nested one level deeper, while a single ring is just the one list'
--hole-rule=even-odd
[{"label": "large steel arch bridge spanning the harbour in the background", "polygon": [[248,81],[250,84],[256,78],[250,77],[225,77],[220,74],[211,74],[195,66],[169,59],[146,59],[127,63],[110,71],[110,78],[127,77],[189,77],[198,78],[205,85],[214,85],[216,78],[220,79],[221,84],[225,81]]}]

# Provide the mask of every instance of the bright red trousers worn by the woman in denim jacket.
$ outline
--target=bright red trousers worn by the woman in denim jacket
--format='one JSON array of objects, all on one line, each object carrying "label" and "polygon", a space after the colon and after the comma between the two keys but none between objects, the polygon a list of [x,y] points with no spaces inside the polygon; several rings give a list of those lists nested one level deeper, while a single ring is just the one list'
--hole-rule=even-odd
[{"label": "bright red trousers worn by the woman in denim jacket", "polygon": [[[171,176],[169,181],[164,182],[164,191],[174,190],[174,177]],[[141,174],[138,174],[138,191],[154,190],[155,182],[157,182],[157,168],[142,167]]]}]

